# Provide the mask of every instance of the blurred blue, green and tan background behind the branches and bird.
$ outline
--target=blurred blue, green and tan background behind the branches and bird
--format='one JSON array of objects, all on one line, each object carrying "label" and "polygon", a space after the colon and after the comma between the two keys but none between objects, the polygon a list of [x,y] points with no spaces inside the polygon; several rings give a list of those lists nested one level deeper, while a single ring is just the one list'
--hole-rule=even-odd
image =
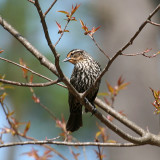
[{"label": "blurred blue, green and tan background behind the branches and bird", "polygon": [[[64,27],[66,21],[65,15],[58,13],[59,10],[70,11],[72,4],[81,4],[75,16],[78,21],[71,22],[68,26],[69,33],[65,33],[56,49],[61,54],[61,67],[64,73],[70,77],[73,66],[69,63],[63,63],[67,53],[75,48],[84,49],[89,52],[102,67],[106,64],[106,58],[99,52],[95,44],[88,36],[83,34],[79,19],[90,28],[93,26],[101,28],[95,34],[97,42],[106,53],[113,56],[123,45],[128,42],[131,36],[138,30],[138,27],[145,21],[149,13],[153,11],[159,0],[58,0],[54,8],[46,17],[49,32],[53,43],[58,38],[58,27],[56,21]],[[51,5],[51,0],[40,0],[42,10],[46,11]],[[15,29],[17,29],[30,43],[32,43],[40,52],[42,52],[50,61],[54,62],[54,57],[47,46],[42,26],[36,8],[27,0],[0,0],[0,14]],[[159,23],[159,12],[153,18]],[[152,48],[151,53],[159,51],[160,34],[159,28],[151,25],[135,40],[134,44],[127,49],[126,53],[137,53]],[[55,76],[50,73],[9,33],[0,27],[0,48],[5,52],[2,57],[19,62],[20,58],[27,63],[27,66],[34,71],[44,74],[52,79]],[[127,117],[143,128],[149,128],[153,133],[159,132],[159,118],[153,115],[154,108],[151,105],[153,100],[149,87],[155,90],[160,89],[160,63],[159,57],[147,59],[141,56],[119,57],[111,66],[109,72],[103,77],[100,92],[106,92],[105,81],[114,85],[117,79],[123,75],[127,82],[130,82],[127,90],[122,91],[117,97],[115,107],[117,110],[123,110]],[[0,61],[0,75],[6,75],[6,79],[25,82],[20,68]],[[44,80],[34,76],[34,82],[44,82]],[[61,132],[55,126],[55,122],[48,113],[38,104],[35,104],[31,98],[31,93],[26,87],[14,87],[7,91],[7,106],[15,110],[15,116],[20,121],[31,121],[29,136],[43,140],[45,137],[53,138]],[[57,118],[63,114],[68,118],[68,93],[67,90],[59,86],[50,86],[45,88],[35,88],[37,96],[41,102],[51,109]],[[103,97],[102,97],[103,98]],[[0,108],[0,128],[7,125],[5,116]],[[93,141],[98,130],[96,119],[90,114],[83,115],[84,126],[73,133],[79,141]],[[100,122],[98,121],[100,124]],[[118,123],[117,123],[118,124]],[[108,131],[111,139],[117,140],[114,133]],[[13,137],[6,136],[6,141],[12,141]],[[121,139],[118,139],[121,141]],[[66,158],[72,159],[72,155],[67,147],[53,146]],[[43,147],[34,148],[43,151]],[[80,149],[80,147],[78,148]],[[76,150],[81,152],[82,149]],[[30,151],[31,146],[10,147],[0,149],[0,154],[4,160],[29,159],[24,152]],[[106,148],[106,159],[159,159],[159,149],[157,147],[143,146],[135,148]],[[5,152],[4,152],[5,151]],[[141,154],[135,154],[140,152]],[[87,159],[96,159],[93,147],[86,147]],[[60,159],[54,155],[53,159]],[[84,159],[83,153],[79,159]]]}]

